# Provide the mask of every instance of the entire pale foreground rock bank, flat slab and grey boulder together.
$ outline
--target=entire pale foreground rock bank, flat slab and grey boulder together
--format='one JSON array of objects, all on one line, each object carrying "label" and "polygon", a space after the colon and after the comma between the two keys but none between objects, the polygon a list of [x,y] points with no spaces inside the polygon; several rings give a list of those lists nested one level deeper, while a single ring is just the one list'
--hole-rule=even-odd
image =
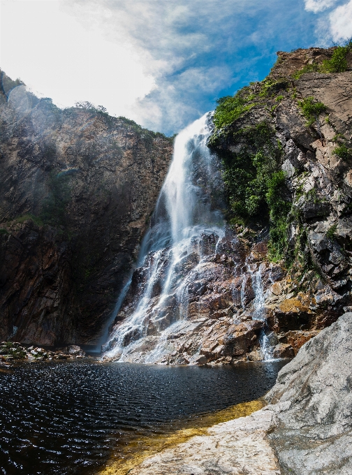
[{"label": "entire pale foreground rock bank, flat slab and grey boulder together", "polygon": [[351,474],[351,342],[346,313],[282,368],[266,407],[149,456],[129,474]]}]

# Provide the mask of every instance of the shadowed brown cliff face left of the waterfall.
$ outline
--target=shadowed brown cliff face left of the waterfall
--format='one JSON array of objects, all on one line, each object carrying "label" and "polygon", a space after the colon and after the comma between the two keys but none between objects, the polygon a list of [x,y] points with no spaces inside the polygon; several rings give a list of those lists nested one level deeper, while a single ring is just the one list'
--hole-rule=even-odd
[{"label": "shadowed brown cliff face left of the waterfall", "polygon": [[172,140],[2,74],[0,338],[95,344],[138,254]]}]

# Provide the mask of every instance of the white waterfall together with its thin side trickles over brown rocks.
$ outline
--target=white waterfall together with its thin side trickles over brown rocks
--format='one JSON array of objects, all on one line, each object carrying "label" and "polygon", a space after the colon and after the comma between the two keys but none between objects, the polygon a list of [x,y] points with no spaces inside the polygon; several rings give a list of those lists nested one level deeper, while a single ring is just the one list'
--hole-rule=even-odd
[{"label": "white waterfall together with its thin side trickles over brown rocks", "polygon": [[[117,321],[108,342],[103,345],[104,358],[119,362],[162,363],[164,356],[175,351],[175,337],[187,332],[190,335],[198,326],[211,326],[214,319],[227,318],[228,324],[237,322],[230,307],[235,304],[227,302],[227,307],[221,307],[221,298],[217,309],[212,309],[212,303],[209,303],[211,313],[207,316],[204,304],[189,309],[190,298],[195,302],[197,295],[207,292],[207,282],[215,279],[214,275],[206,279],[201,276],[206,274],[207,268],[217,267],[220,256],[227,259],[229,249],[233,252],[233,240],[236,240],[234,235],[226,238],[221,214],[224,205],[221,166],[206,145],[211,133],[210,119],[210,114],[204,115],[175,139],[173,161],[142,242],[138,268],[133,273],[131,286],[128,290],[125,288],[127,297],[120,314],[117,312],[122,298],[119,299],[115,309]],[[235,262],[232,265],[236,268]],[[262,266],[257,268],[256,263],[246,261],[246,267],[247,277],[240,288],[241,302],[247,279],[251,278],[254,291],[252,319],[265,321]],[[219,265],[217,269],[219,272]],[[231,314],[232,323],[228,320]],[[270,339],[265,330],[258,336],[264,359],[271,360]],[[186,359],[190,361],[189,356],[196,358],[204,344],[193,343]],[[182,364],[182,358],[177,362]]]}]

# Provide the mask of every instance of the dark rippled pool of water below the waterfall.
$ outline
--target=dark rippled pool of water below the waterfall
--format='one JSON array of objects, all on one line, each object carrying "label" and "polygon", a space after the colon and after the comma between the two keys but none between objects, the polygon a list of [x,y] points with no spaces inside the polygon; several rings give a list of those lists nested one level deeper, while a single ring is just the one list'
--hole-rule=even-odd
[{"label": "dark rippled pool of water below the waterfall", "polygon": [[1,371],[0,474],[94,474],[133,437],[261,397],[284,364],[50,362]]}]

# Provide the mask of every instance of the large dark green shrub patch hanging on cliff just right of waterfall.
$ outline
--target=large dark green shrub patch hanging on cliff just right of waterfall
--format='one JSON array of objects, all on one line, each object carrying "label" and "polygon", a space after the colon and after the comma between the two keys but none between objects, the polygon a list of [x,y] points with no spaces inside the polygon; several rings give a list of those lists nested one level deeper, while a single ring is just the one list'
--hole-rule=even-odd
[{"label": "large dark green shrub patch hanging on cliff just right of waterfall", "polygon": [[[235,133],[243,143],[238,153],[224,157],[223,178],[230,204],[230,224],[270,218],[270,256],[284,257],[287,248],[287,215],[291,203],[284,198],[286,179],[279,166],[281,147],[266,122]],[[281,144],[280,144],[281,145]]]}]

